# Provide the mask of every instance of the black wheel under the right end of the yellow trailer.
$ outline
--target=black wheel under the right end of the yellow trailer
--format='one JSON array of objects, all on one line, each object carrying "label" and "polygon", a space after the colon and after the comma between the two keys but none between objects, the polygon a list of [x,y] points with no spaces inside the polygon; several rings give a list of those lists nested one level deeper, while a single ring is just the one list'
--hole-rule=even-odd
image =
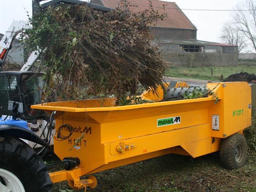
[{"label": "black wheel under the right end of the yellow trailer", "polygon": [[221,164],[226,169],[238,169],[246,163],[247,143],[241,134],[234,134],[224,139],[220,148]]}]

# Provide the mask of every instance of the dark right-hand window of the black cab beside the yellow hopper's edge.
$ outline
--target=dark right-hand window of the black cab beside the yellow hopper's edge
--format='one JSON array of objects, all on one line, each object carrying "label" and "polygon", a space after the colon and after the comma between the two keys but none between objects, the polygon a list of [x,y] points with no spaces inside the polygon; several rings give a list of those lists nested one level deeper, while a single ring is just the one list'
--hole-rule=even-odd
[{"label": "dark right-hand window of the black cab beside the yellow hopper's edge", "polygon": [[41,103],[41,94],[44,87],[44,81],[40,76],[29,77],[22,85],[25,95],[27,113],[30,117],[47,115],[42,110],[31,109],[31,105]]}]

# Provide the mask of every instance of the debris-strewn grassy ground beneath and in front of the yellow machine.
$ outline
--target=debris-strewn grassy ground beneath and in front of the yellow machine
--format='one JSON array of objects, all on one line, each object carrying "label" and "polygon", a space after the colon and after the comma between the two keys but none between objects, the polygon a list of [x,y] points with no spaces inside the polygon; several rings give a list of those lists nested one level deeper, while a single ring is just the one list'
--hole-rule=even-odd
[{"label": "debris-strewn grassy ground beneath and in front of the yellow machine", "polygon": [[[237,170],[220,166],[218,154],[191,158],[169,154],[96,173],[98,186],[88,192],[256,192],[256,109],[246,131],[250,146],[247,163]],[[73,192],[67,182],[55,183],[52,192]],[[83,189],[77,192],[84,192]]]}]

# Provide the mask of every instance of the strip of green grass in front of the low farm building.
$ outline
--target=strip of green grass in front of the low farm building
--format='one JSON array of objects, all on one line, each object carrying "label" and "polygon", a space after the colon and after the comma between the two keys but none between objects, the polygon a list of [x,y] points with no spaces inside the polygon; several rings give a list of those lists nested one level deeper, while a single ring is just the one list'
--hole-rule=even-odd
[{"label": "strip of green grass in front of the low farm building", "polygon": [[[211,69],[213,70],[212,75]],[[228,67],[171,67],[166,72],[166,76],[215,81],[221,80],[221,76],[227,78],[234,73],[240,72],[256,74],[256,64],[253,66],[238,65]]]}]

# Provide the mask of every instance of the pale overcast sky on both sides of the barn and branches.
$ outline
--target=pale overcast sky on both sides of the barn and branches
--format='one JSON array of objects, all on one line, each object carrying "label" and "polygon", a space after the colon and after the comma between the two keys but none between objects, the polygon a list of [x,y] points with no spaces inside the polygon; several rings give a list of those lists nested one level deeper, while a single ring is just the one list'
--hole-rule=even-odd
[{"label": "pale overcast sky on both sides of the barn and branches", "polygon": [[[180,9],[234,9],[245,0],[166,0],[175,1]],[[0,0],[0,33],[5,33],[12,20],[27,20],[32,13],[32,0]],[[197,27],[199,40],[220,41],[223,23],[232,12],[183,11]]]}]

